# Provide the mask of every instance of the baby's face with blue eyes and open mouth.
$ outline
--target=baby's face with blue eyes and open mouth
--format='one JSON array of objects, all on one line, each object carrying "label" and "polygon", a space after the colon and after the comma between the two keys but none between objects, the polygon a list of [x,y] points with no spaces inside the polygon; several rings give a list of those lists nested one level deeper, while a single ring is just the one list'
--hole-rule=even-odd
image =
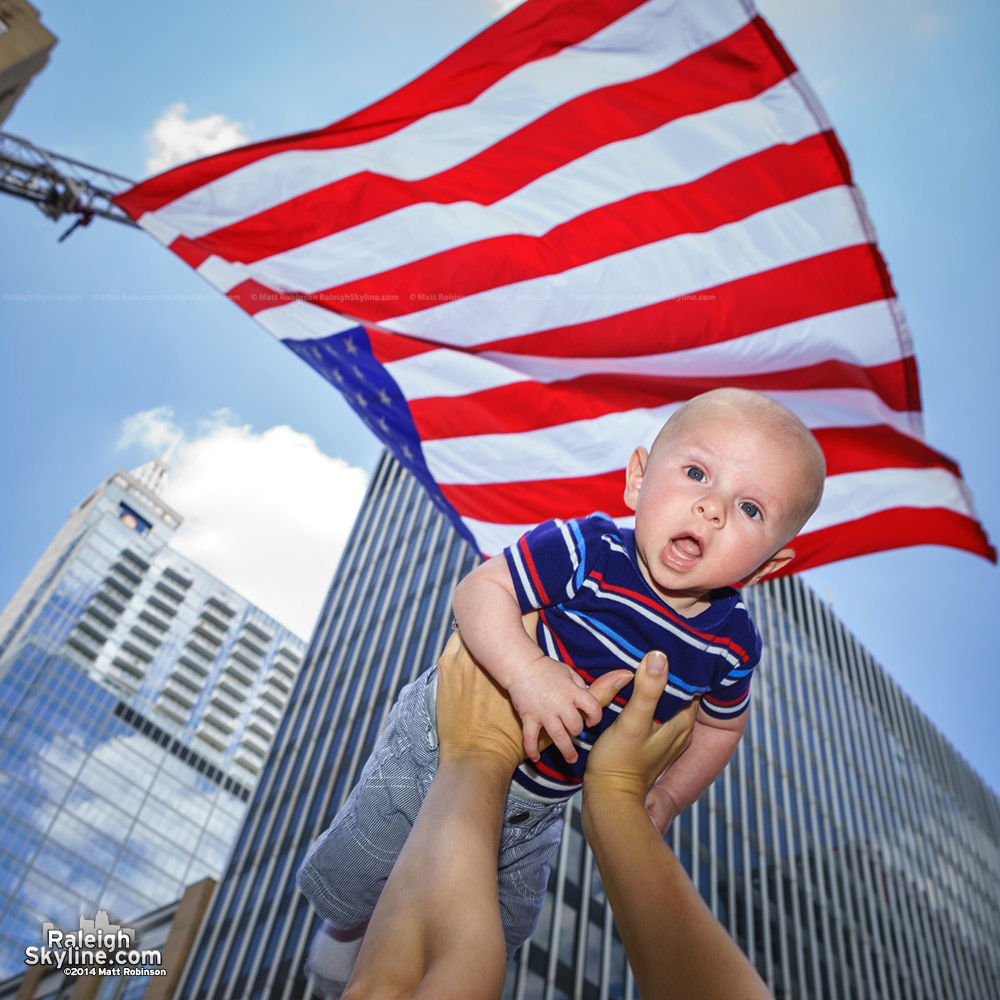
[{"label": "baby's face with blue eyes and open mouth", "polygon": [[787,562],[790,550],[777,565],[772,557],[790,533],[802,480],[794,448],[738,413],[712,411],[682,423],[657,442],[633,494],[647,582],[684,610]]}]

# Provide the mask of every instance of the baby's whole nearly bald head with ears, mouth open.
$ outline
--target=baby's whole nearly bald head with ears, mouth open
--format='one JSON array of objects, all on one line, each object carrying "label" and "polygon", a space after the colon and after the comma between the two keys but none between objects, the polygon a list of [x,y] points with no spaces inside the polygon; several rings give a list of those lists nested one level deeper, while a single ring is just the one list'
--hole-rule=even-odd
[{"label": "baby's whole nearly bald head with ears, mouth open", "polygon": [[790,410],[745,389],[685,403],[626,470],[636,551],[668,604],[695,613],[706,595],[755,583],[794,555],[785,543],[819,504],[823,452]]}]

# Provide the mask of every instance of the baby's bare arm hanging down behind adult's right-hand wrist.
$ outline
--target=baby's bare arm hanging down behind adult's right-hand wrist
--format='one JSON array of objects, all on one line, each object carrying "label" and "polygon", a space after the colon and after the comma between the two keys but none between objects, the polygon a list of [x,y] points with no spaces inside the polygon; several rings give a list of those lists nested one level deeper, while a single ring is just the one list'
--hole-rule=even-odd
[{"label": "baby's bare arm hanging down behind adult's right-hand wrist", "polygon": [[736,752],[746,720],[746,712],[735,719],[717,719],[698,710],[691,745],[646,796],[646,811],[661,833],[722,773]]}]

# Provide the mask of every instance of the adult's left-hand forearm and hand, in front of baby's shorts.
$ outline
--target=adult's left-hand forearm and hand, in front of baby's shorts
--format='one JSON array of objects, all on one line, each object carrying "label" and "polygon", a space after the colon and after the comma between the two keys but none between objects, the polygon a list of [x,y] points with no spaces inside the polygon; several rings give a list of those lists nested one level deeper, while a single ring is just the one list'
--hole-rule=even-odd
[{"label": "adult's left-hand forearm and hand, in front of baby's shorts", "polygon": [[[631,679],[615,671],[594,687],[610,702]],[[344,1000],[497,1000],[503,990],[496,862],[521,723],[458,633],[438,660],[437,688],[437,773]]]}]

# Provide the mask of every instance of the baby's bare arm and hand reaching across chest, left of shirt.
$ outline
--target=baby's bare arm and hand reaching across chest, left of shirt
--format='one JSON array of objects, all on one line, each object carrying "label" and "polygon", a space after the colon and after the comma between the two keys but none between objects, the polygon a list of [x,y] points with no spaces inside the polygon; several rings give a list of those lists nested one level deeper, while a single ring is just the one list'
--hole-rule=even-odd
[{"label": "baby's bare arm and hand reaching across chest, left of shirt", "polygon": [[547,657],[525,633],[503,556],[487,560],[462,580],[454,609],[469,652],[510,695],[527,755],[538,759],[538,735],[544,729],[566,760],[576,760],[572,737],[584,719],[591,725],[600,721],[600,705],[581,677]]}]

